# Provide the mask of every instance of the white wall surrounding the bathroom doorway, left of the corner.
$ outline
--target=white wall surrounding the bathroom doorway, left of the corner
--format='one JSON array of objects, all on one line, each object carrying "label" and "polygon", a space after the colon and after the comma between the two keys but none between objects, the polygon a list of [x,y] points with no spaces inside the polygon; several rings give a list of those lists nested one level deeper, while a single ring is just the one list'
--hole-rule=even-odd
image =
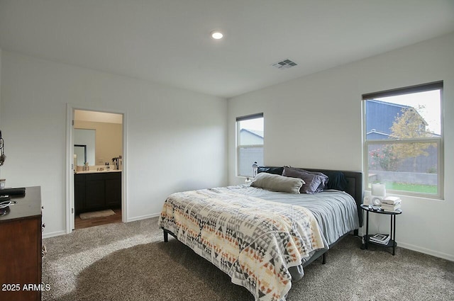
[{"label": "white wall surrounding the bathroom doorway, left of the corner", "polygon": [[1,174],[41,186],[45,236],[65,232],[67,103],[126,114],[128,220],[157,215],[175,191],[227,183],[225,99],[6,51],[1,62]]}]

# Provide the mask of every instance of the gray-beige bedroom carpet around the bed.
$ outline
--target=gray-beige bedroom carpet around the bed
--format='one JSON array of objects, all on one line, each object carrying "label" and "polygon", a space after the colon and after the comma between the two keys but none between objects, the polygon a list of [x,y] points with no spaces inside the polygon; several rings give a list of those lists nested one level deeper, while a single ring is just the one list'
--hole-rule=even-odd
[{"label": "gray-beige bedroom carpet around the bed", "polygon": [[[43,300],[253,301],[208,261],[170,239],[157,218],[79,229],[44,239]],[[287,301],[454,300],[454,263],[397,248],[360,249],[346,237],[294,283]]]}]

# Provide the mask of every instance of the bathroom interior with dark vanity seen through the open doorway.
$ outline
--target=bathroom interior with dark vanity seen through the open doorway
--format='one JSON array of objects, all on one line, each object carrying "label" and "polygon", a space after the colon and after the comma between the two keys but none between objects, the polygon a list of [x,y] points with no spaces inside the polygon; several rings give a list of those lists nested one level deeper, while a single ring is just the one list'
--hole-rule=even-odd
[{"label": "bathroom interior with dark vanity seen through the open doorway", "polygon": [[74,110],[74,229],[121,222],[123,115]]}]

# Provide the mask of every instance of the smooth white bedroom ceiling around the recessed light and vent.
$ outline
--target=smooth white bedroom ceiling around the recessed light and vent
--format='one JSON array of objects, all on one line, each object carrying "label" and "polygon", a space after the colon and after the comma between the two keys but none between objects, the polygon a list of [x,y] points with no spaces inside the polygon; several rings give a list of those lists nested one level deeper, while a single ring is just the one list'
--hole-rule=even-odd
[{"label": "smooth white bedroom ceiling around the recessed light and vent", "polygon": [[453,31],[454,0],[0,0],[2,50],[223,98]]}]

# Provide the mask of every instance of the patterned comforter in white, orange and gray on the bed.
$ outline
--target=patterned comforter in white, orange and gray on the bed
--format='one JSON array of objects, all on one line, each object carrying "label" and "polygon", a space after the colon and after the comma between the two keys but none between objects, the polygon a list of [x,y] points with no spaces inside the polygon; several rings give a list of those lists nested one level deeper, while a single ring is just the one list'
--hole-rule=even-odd
[{"label": "patterned comforter in white, orange and gray on the bed", "polygon": [[158,224],[260,301],[285,300],[292,287],[288,268],[325,247],[306,208],[225,188],[170,195]]}]

